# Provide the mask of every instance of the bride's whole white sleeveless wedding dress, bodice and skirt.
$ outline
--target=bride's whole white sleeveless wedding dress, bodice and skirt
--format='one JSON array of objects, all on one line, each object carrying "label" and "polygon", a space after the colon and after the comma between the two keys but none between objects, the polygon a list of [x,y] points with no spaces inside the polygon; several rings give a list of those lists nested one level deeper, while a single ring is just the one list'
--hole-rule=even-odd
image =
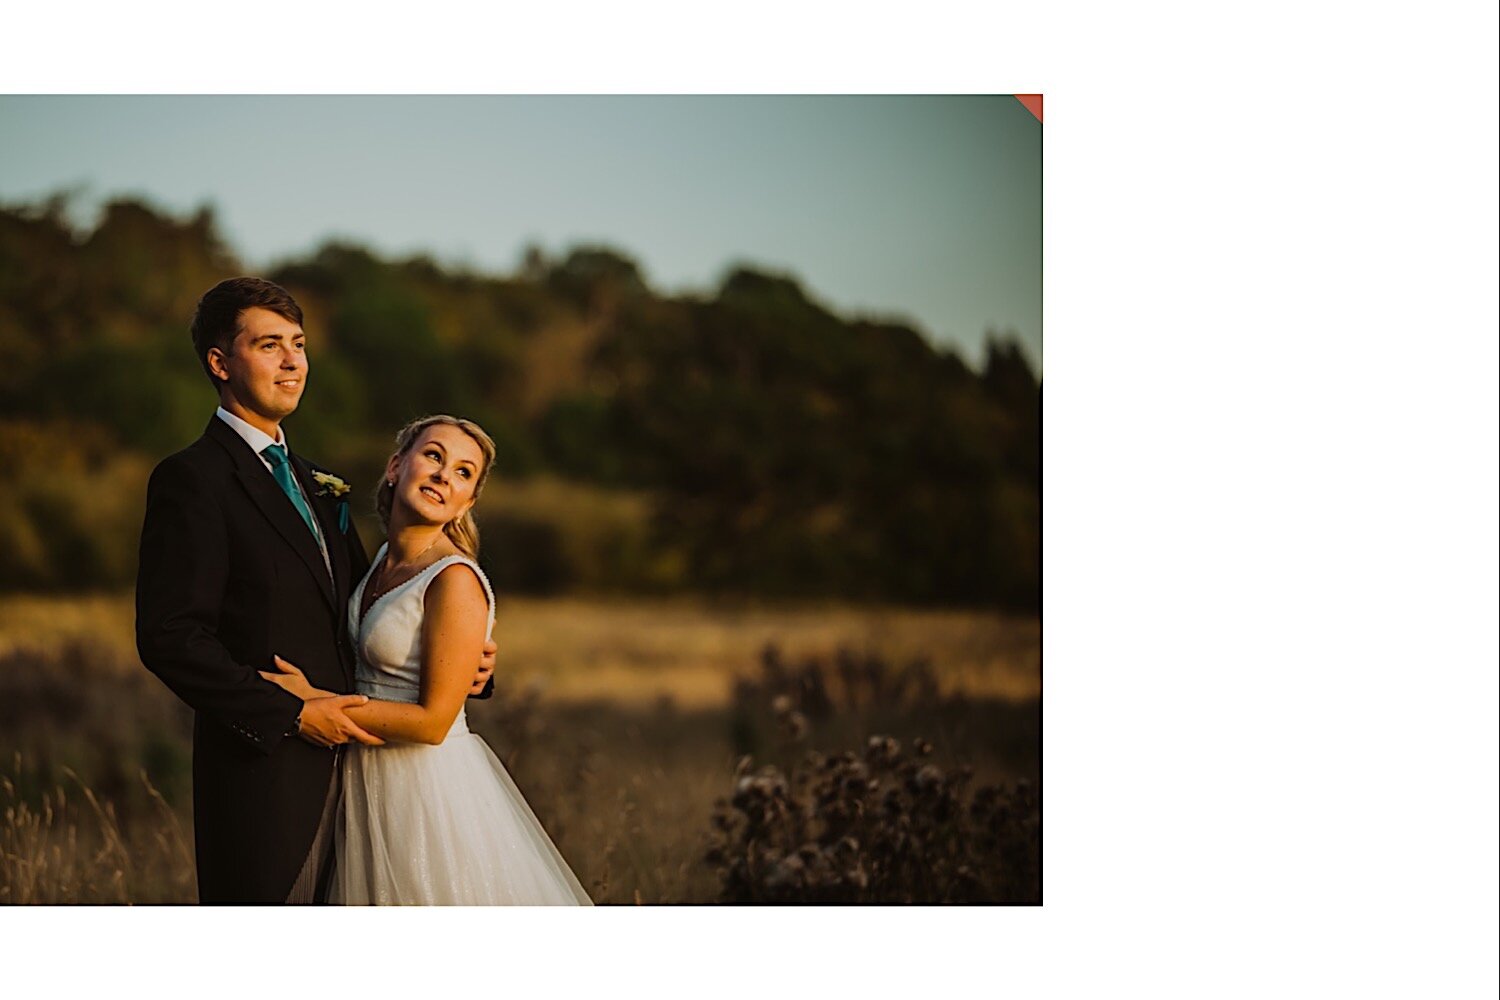
[{"label": "bride's whole white sleeveless wedding dress, bodice and skirt", "polygon": [[[356,681],[360,694],[416,703],[428,586],[444,567],[468,565],[489,595],[489,628],[495,592],[471,559],[447,556],[382,594],[360,621],[364,588],[384,555],[381,546],[350,600]],[[500,759],[468,730],[462,709],[435,747],[350,744],[342,780],[330,903],[591,904]]]}]

